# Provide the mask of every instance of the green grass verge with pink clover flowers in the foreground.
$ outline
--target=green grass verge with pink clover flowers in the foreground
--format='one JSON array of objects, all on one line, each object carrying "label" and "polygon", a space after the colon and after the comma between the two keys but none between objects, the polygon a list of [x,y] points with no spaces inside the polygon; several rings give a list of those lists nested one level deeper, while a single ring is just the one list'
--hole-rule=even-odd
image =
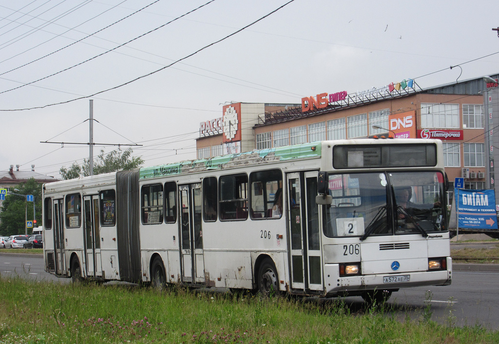
[{"label": "green grass verge with pink clover flowers in the foreground", "polygon": [[341,301],[0,279],[3,343],[498,343],[499,333]]}]

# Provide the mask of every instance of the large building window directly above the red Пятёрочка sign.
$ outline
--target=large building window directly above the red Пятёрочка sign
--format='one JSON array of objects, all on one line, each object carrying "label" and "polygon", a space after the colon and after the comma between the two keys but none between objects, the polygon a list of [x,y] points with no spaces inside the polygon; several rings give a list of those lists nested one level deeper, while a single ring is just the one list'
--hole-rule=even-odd
[{"label": "large building window directly above the red \u041f\u044f\u0442\u0451\u0440\u043e\u0447\u043a\u0430 sign", "polygon": [[421,128],[459,129],[459,104],[421,103]]}]

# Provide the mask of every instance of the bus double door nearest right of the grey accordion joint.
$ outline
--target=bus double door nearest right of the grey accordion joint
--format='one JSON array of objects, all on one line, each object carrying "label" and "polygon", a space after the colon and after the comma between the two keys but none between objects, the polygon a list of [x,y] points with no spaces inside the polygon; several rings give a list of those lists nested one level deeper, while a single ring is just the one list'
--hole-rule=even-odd
[{"label": "bus double door nearest right of the grey accordion joint", "polygon": [[201,183],[179,185],[182,281],[205,283]]}]

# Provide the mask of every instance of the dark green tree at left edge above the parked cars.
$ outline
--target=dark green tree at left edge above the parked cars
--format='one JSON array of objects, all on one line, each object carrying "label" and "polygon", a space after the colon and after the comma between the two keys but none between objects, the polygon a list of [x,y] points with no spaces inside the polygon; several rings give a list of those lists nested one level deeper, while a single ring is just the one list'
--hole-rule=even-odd
[{"label": "dark green tree at left edge above the parked cars", "polygon": [[[42,184],[34,178],[25,183],[20,183],[15,188],[19,191],[12,191],[21,195],[33,195],[35,201],[36,216],[34,219],[41,223],[41,187]],[[27,208],[26,208],[27,207]],[[2,202],[0,211],[0,234],[10,236],[24,234],[26,223],[25,215],[27,209],[27,220],[33,220],[33,202],[26,203],[26,196],[7,194]],[[28,233],[31,230],[28,228]]]}]

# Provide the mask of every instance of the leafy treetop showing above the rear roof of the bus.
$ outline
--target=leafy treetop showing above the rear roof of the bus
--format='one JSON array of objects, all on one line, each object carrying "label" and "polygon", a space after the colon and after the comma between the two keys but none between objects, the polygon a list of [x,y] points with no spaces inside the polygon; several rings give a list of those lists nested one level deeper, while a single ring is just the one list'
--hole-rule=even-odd
[{"label": "leafy treetop showing above the rear roof of the bus", "polygon": [[[94,161],[93,174],[101,174],[117,171],[130,171],[139,168],[144,164],[144,160],[140,157],[132,157],[133,150],[131,148],[126,151],[112,151],[109,154],[104,154],[104,150],[100,151],[99,156]],[[66,169],[62,167],[60,174],[62,179],[78,178],[80,176],[90,175],[89,160],[83,160],[83,165],[79,166],[76,162]]]}]

